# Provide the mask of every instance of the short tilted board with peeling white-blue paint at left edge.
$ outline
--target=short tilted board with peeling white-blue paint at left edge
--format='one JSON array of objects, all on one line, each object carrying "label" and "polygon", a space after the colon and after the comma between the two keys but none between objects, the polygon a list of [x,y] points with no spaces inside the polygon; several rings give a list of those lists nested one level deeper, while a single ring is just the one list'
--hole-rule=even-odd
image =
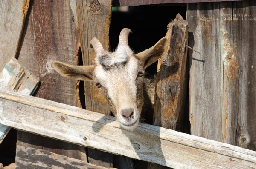
[{"label": "short tilted board with peeling white-blue paint at left edge", "polygon": [[[32,95],[38,83],[39,78],[20,65],[15,58],[9,60],[0,72],[0,89]],[[0,144],[10,129],[11,127],[0,124]]]}]

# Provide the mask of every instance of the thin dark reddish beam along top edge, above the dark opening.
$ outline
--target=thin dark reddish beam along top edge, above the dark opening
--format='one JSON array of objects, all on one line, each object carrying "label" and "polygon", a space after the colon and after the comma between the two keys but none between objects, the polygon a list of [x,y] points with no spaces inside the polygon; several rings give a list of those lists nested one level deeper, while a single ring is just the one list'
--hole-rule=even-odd
[{"label": "thin dark reddish beam along top edge, above the dark opening", "polygon": [[242,0],[113,0],[113,6],[139,6],[151,4],[169,3],[203,3],[203,2],[223,2],[223,1],[242,1]]}]

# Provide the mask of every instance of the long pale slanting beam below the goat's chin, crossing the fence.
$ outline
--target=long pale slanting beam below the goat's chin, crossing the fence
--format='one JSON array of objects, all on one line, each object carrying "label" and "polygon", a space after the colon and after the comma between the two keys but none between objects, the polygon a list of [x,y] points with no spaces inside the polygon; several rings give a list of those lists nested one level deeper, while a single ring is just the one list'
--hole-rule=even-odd
[{"label": "long pale slanting beam below the goat's chin, crossing the fence", "polygon": [[142,123],[130,132],[115,117],[4,90],[0,123],[177,169],[256,166],[256,152],[248,149]]}]

